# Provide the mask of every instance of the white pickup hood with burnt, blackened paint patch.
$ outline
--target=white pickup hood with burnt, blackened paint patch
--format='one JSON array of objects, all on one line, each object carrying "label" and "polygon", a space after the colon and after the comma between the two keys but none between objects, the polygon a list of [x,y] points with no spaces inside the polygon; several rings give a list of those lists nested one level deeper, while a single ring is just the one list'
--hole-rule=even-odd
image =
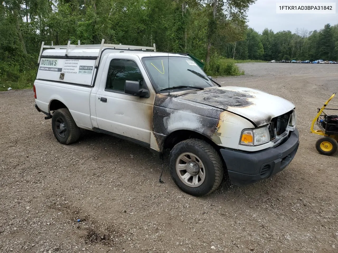
[{"label": "white pickup hood with burnt, blackened paint patch", "polygon": [[291,102],[282,97],[236,86],[198,90],[178,97],[236,113],[257,126],[268,124],[272,118],[295,108]]}]

